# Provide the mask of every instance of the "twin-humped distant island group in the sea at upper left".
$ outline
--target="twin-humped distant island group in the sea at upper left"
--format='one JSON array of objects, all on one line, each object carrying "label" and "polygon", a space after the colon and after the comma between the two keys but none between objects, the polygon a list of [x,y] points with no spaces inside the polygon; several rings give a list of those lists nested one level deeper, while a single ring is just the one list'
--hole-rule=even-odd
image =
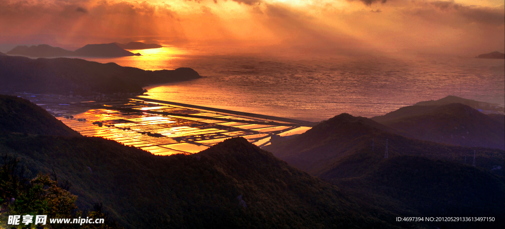
[{"label": "twin-humped distant island group in the sea at upper left", "polygon": [[58,56],[91,56],[91,57],[122,57],[140,55],[127,51],[115,43],[110,44],[87,44],[75,51],[69,51],[60,47],[53,47],[47,44],[19,45],[8,51],[7,54],[25,55],[32,57],[58,57]]}]

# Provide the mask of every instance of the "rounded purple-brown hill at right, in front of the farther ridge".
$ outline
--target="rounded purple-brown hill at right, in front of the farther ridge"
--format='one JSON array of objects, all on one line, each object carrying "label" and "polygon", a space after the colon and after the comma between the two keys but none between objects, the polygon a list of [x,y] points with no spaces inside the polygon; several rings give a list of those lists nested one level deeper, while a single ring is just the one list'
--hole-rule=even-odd
[{"label": "rounded purple-brown hill at right, in front of the farther ridge", "polygon": [[[403,136],[450,145],[505,149],[505,125],[478,110],[461,103],[425,107],[418,114],[382,121]],[[403,107],[407,108],[407,107]],[[400,111],[400,108],[396,111]],[[388,115],[394,115],[393,111]],[[387,116],[387,115],[386,115]],[[498,117],[502,115],[497,115]],[[373,118],[372,118],[373,119]],[[379,120],[384,120],[384,117]]]}]

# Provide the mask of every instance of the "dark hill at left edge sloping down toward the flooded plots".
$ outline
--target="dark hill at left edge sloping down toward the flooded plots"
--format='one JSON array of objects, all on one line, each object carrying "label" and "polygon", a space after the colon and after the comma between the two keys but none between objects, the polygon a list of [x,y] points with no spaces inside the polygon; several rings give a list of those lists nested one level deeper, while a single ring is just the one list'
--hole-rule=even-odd
[{"label": "dark hill at left edge sloping down toward the flooded plots", "polygon": [[0,132],[80,136],[29,100],[0,95]]}]

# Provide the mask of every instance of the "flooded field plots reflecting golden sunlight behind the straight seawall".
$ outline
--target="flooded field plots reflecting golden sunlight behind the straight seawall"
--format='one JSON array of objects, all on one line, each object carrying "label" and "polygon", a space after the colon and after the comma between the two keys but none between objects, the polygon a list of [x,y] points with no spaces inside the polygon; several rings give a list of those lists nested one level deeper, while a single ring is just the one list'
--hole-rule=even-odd
[{"label": "flooded field plots reflecting golden sunlight behind the straight seawall", "polygon": [[48,96],[30,98],[83,136],[103,137],[159,155],[196,153],[237,136],[262,147],[270,144],[272,138],[301,134],[314,125],[141,99],[64,103]]}]

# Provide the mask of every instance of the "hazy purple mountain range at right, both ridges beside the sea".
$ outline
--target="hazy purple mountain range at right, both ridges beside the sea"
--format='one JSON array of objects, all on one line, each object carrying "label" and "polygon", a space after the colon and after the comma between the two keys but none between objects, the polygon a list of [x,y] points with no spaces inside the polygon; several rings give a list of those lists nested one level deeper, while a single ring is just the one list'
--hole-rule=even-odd
[{"label": "hazy purple mountain range at right, both ridges beside the sea", "polygon": [[[465,104],[451,103],[454,101]],[[484,111],[487,112],[500,113],[486,115],[472,106],[485,108],[487,110]],[[436,101],[402,107],[384,116],[373,117],[371,120],[391,128],[391,133],[409,138],[503,150],[505,117],[502,110],[503,107],[495,104],[448,96]]]}]

